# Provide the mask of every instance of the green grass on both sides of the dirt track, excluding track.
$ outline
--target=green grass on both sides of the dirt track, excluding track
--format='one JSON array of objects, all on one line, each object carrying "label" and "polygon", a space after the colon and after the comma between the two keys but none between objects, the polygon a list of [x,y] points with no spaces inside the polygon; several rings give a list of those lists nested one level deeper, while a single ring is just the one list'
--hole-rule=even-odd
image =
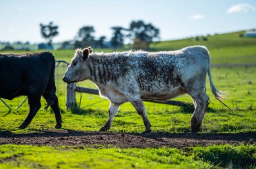
[{"label": "green grass on both sides of the dirt track, excluding track", "polygon": [[[228,92],[225,103],[235,114],[214,99],[207,79],[210,105],[205,114],[201,133],[256,132],[256,67],[218,67],[216,64],[256,64],[256,39],[239,38],[236,32],[207,37],[207,42],[193,38],[152,44],[152,50],[178,50],[185,46],[205,45],[212,56],[212,76],[216,87]],[[69,60],[74,50],[53,51],[56,60]],[[65,111],[65,84],[61,76],[65,65],[57,68],[57,95],[63,113],[63,130],[98,131],[108,117],[108,101],[98,95],[77,93],[79,109]],[[80,82],[80,87],[96,89],[90,82]],[[80,98],[81,101],[80,101]],[[7,102],[13,107],[19,101]],[[174,100],[192,102],[188,95]],[[17,103],[18,102],[18,103]],[[51,130],[55,117],[51,110],[40,110],[27,129],[18,129],[27,115],[27,102],[21,109],[11,112],[0,102],[1,133],[34,133]],[[42,102],[42,105],[44,102]],[[189,133],[189,120],[193,109],[145,102],[153,133]],[[5,110],[5,111],[2,111]],[[141,133],[143,121],[130,103],[125,103],[113,121],[110,132]],[[252,140],[253,142],[254,140]],[[100,146],[0,146],[0,168],[255,168],[256,146],[207,146],[177,148],[113,148]]]}]

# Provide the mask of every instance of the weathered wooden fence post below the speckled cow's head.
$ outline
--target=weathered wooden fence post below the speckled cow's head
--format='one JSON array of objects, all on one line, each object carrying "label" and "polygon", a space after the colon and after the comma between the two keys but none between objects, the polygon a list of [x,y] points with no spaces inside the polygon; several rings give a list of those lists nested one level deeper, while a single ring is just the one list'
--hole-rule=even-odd
[{"label": "weathered wooden fence post below the speckled cow's head", "polygon": [[67,84],[67,102],[66,102],[67,111],[75,105],[75,88],[76,88],[75,83]]}]

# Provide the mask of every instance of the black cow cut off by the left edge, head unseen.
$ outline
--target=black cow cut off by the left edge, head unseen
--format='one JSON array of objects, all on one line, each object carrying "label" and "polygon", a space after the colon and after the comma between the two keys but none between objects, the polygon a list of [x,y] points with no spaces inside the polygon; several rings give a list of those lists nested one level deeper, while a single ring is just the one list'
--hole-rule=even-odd
[{"label": "black cow cut off by the left edge, head unseen", "polygon": [[20,125],[28,127],[41,107],[41,96],[55,113],[57,125],[61,128],[61,111],[55,95],[55,58],[50,52],[27,54],[0,54],[0,97],[13,99],[28,96],[30,111]]}]

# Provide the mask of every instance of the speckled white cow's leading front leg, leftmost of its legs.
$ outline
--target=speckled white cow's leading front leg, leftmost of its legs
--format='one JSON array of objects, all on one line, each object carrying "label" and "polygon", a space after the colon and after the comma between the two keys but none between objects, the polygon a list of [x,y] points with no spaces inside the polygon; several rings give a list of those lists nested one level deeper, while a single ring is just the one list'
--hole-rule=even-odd
[{"label": "speckled white cow's leading front leg, leftmost of its legs", "polygon": [[108,109],[108,120],[106,121],[105,125],[101,127],[100,131],[107,131],[110,129],[112,121],[117,114],[117,111],[119,111],[120,105],[115,105],[110,102],[109,109]]}]

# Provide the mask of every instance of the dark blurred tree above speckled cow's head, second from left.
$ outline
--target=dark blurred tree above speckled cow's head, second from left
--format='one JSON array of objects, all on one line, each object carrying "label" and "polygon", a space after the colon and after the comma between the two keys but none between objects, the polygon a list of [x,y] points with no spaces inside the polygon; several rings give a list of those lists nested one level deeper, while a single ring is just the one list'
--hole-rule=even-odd
[{"label": "dark blurred tree above speckled cow's head, second from left", "polygon": [[84,26],[78,30],[75,40],[75,48],[84,48],[85,46],[94,46],[93,26]]}]

